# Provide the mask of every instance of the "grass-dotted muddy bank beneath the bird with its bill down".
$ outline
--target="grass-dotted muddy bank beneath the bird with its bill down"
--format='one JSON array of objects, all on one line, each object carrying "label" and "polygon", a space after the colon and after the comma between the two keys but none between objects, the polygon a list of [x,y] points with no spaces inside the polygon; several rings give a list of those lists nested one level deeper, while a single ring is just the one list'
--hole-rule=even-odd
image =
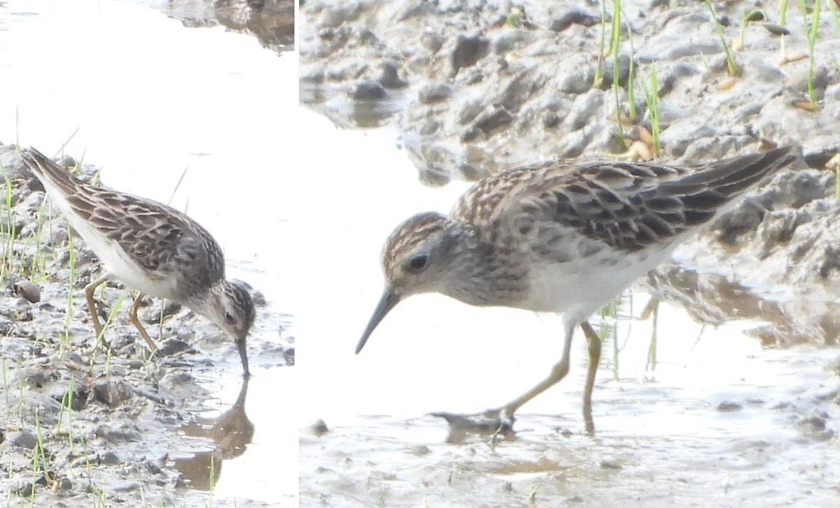
[{"label": "grass-dotted muddy bank beneath the bird with its bill down", "polygon": [[[139,318],[159,345],[150,357],[126,315],[129,291],[108,283],[97,298],[110,320],[110,347],[97,344],[82,291],[100,273],[97,259],[68,231],[13,146],[0,146],[0,162],[8,175],[0,186],[0,476],[8,499],[206,505],[224,461],[244,453],[255,432],[232,339],[186,307],[149,300]],[[97,179],[97,168],[80,171]],[[293,364],[294,339],[283,335],[288,317],[270,312],[259,291],[253,296],[257,327],[274,334],[266,342],[252,333],[251,364]],[[224,385],[239,386],[239,395],[219,400]],[[260,505],[247,493],[236,504]]]}]

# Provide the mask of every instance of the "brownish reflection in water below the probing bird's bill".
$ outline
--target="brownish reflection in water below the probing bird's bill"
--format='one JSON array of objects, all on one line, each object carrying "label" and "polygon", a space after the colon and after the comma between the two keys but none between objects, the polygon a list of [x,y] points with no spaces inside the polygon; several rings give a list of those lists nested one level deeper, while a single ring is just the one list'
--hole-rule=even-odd
[{"label": "brownish reflection in water below the probing bird's bill", "polygon": [[184,435],[212,439],[215,444],[213,450],[197,452],[192,458],[174,459],[174,469],[189,480],[192,488],[210,490],[222,474],[222,462],[245,453],[254,438],[254,424],[245,414],[247,394],[248,378],[244,378],[239,396],[228,411],[215,418],[197,417],[181,427]]}]

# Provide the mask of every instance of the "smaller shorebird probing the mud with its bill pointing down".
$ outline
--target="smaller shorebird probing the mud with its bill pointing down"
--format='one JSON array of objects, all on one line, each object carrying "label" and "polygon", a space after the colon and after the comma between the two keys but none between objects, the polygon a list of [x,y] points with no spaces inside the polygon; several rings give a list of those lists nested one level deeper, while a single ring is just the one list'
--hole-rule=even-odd
[{"label": "smaller shorebird probing the mud with its bill pointing down", "polygon": [[118,191],[91,186],[34,148],[24,161],[107,273],[85,286],[97,338],[102,323],[93,292],[107,280],[139,291],[129,317],[152,351],[155,342],[137,318],[144,295],[178,301],[208,317],[234,337],[245,376],[245,338],[255,308],[247,285],[224,276],[224,256],[213,236],[175,208]]}]

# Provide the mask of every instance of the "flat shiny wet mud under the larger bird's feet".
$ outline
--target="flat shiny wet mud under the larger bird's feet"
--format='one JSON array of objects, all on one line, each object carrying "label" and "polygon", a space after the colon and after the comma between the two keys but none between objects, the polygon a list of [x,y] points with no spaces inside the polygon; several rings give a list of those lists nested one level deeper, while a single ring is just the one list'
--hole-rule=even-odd
[{"label": "flat shiny wet mud under the larger bird's feet", "polygon": [[[702,347],[726,350],[731,341]],[[704,359],[664,366],[655,380],[610,380],[607,360],[594,436],[582,431],[573,388],[582,366],[554,396],[556,414],[525,411],[516,437],[496,444],[449,432],[433,416],[302,428],[301,505],[836,504],[840,353],[727,354],[737,371]]]}]

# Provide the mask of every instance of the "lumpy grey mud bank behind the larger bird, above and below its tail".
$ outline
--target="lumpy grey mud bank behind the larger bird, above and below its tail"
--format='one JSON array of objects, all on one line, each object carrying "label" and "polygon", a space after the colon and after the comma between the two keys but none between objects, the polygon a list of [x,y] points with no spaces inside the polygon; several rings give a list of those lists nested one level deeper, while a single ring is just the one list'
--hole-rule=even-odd
[{"label": "lumpy grey mud bank behind the larger bird, above and below its tail", "polygon": [[[643,85],[655,65],[660,160],[691,164],[766,141],[800,145],[803,154],[680,249],[680,262],[654,272],[645,289],[710,323],[772,317],[760,332],[764,343],[832,344],[840,330],[840,205],[825,166],[840,151],[840,70],[831,56],[840,35],[823,6],[813,52],[817,108],[808,111],[803,13],[789,7],[782,37],[772,26],[779,4],[766,4],[742,39],[745,8],[717,5],[727,41],[740,39],[733,51],[740,74],[732,78],[706,4],[622,3],[618,101],[628,139],[639,138],[639,126],[651,128]],[[599,59],[600,5],[309,1],[301,15],[302,102],[339,125],[396,129],[424,183],[627,152],[617,135],[612,56]],[[611,13],[604,16],[609,30]],[[593,86],[599,67],[604,79]],[[737,308],[718,296],[733,281],[751,298]]]}]

